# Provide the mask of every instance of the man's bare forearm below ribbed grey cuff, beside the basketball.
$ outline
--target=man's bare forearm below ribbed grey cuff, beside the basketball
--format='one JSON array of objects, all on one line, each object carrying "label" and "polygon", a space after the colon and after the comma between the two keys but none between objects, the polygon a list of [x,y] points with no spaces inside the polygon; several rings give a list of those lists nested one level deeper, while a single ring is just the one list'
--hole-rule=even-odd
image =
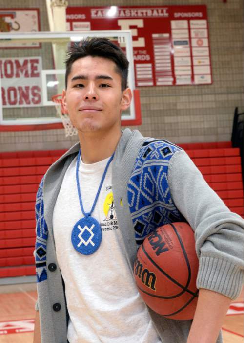
[{"label": "man's bare forearm below ribbed grey cuff, beside the basketball", "polygon": [[187,343],[216,343],[230,303],[228,297],[200,289]]}]

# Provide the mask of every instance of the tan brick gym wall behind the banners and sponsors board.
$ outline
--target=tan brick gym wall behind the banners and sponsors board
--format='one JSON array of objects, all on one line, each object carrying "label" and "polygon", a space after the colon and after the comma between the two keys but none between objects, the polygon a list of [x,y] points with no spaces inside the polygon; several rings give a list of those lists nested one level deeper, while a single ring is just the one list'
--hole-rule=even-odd
[{"label": "tan brick gym wall behind the banners and sponsors board", "polygon": [[[68,2],[81,6],[80,0]],[[131,129],[175,143],[230,140],[234,108],[243,111],[242,0],[82,1],[83,6],[187,4],[207,6],[213,84],[140,87],[142,125]],[[9,7],[9,1],[1,1],[1,8]],[[41,31],[48,31],[44,0],[11,0],[11,8],[29,7],[40,9]],[[0,132],[0,151],[62,149],[77,140],[65,138],[64,130]]]}]

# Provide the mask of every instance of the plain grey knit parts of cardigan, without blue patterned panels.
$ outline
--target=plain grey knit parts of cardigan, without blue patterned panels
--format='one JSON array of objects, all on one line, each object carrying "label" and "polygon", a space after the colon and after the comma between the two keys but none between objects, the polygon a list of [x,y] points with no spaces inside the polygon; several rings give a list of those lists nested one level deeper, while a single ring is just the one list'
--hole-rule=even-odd
[{"label": "plain grey knit parts of cardigan, without blue patterned panels", "polygon": [[[131,273],[137,245],[127,201],[127,185],[136,157],[145,140],[148,138],[142,137],[138,131],[124,130],[112,162],[114,204]],[[77,156],[79,148],[80,145],[77,143],[56,161],[46,172],[43,181],[44,219],[48,228],[48,268],[47,278],[37,284],[37,309],[40,311],[42,343],[67,342],[65,292],[55,254],[52,215],[65,172]],[[183,150],[177,151],[170,160],[168,183],[175,205],[195,231],[196,251],[200,262],[198,288],[210,289],[232,299],[238,297],[243,279],[241,217],[231,213],[216,193],[208,187],[201,173]],[[120,206],[121,199],[124,206]],[[57,268],[53,270],[50,264],[55,264]],[[148,310],[163,343],[187,341],[191,320],[170,320]],[[222,342],[221,334],[217,342]]]}]

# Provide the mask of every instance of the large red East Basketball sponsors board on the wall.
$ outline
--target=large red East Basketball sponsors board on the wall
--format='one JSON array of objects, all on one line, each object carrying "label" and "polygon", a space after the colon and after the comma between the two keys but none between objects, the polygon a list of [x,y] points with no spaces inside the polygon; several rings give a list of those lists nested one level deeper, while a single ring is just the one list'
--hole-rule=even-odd
[{"label": "large red East Basketball sponsors board on the wall", "polygon": [[136,86],[211,84],[207,8],[68,7],[67,30],[131,30]]}]

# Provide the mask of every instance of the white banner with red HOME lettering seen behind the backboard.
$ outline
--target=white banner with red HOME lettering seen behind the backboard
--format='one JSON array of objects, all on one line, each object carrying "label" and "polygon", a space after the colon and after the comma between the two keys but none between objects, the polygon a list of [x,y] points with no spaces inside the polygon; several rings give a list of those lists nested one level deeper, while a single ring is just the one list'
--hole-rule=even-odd
[{"label": "white banner with red HOME lettering seen behind the backboard", "polygon": [[41,57],[1,58],[2,107],[41,106]]}]

